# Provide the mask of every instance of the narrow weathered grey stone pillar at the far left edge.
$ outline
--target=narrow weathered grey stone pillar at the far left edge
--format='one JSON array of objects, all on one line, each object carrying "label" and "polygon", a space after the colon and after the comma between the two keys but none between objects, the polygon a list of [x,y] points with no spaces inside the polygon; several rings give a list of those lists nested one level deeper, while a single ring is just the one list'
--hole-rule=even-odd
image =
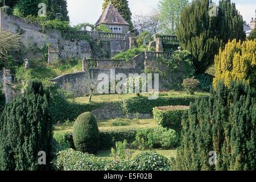
[{"label": "narrow weathered grey stone pillar at the far left edge", "polygon": [[3,69],[3,92],[5,93],[5,102],[9,103],[12,100],[11,94],[11,71]]}]

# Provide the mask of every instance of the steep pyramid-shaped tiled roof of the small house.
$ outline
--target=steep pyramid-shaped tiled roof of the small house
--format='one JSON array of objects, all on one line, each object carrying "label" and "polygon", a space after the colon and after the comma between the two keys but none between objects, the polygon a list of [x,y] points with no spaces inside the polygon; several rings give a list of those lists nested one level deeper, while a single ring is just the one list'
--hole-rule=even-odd
[{"label": "steep pyramid-shaped tiled roof of the small house", "polygon": [[112,3],[109,3],[108,7],[106,7],[104,13],[97,20],[96,25],[101,23],[129,25],[129,23],[127,23],[126,20],[118,13]]}]

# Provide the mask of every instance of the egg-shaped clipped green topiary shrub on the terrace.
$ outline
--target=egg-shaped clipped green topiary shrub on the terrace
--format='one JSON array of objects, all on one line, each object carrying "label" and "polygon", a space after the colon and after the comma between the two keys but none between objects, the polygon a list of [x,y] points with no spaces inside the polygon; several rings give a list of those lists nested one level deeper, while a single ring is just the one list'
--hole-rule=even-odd
[{"label": "egg-shaped clipped green topiary shrub on the terrace", "polygon": [[73,126],[75,148],[81,152],[95,154],[98,151],[100,133],[96,118],[90,112],[82,113]]}]

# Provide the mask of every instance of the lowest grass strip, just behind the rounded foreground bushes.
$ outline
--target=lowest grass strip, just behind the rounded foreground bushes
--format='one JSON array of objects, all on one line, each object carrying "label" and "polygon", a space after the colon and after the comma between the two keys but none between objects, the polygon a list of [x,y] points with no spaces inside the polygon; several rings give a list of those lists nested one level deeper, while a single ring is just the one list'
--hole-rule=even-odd
[{"label": "lowest grass strip, just behind the rounded foreground bushes", "polygon": [[[156,153],[165,156],[167,159],[172,158],[176,158],[177,155],[177,150],[131,150],[131,152],[133,152],[132,158],[134,158],[135,156],[141,154],[142,152],[146,152],[146,151],[155,151]],[[98,154],[96,155],[97,157],[100,158],[106,158],[106,159],[110,159],[113,160],[114,158],[112,156],[110,156],[111,151],[110,150],[102,150],[99,151]]]}]

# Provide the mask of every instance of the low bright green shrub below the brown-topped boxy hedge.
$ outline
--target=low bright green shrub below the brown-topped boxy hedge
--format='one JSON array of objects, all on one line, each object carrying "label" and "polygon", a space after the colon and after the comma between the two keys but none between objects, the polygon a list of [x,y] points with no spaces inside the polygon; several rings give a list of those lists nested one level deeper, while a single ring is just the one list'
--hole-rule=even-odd
[{"label": "low bright green shrub below the brown-topped boxy hedge", "polygon": [[177,146],[178,137],[175,130],[163,127],[155,129],[141,129],[136,134],[133,146],[139,150],[152,148],[172,149]]}]

